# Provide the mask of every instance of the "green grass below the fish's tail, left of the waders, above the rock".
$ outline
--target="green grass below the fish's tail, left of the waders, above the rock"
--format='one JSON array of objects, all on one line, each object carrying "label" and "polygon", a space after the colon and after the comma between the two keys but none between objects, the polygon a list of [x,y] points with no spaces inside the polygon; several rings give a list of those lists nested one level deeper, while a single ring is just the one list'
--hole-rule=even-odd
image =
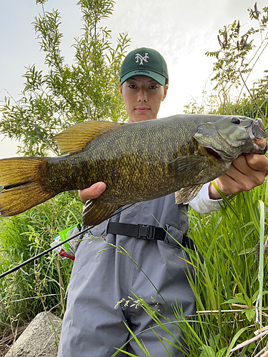
[{"label": "green grass below the fish's tail, left of the waders, above the rock", "polygon": [[[0,273],[50,248],[59,231],[79,223],[82,203],[76,193],[61,193],[31,210],[0,220]],[[51,251],[0,280],[0,330],[37,313],[64,312],[72,261]],[[43,305],[43,303],[44,305]]]}]

